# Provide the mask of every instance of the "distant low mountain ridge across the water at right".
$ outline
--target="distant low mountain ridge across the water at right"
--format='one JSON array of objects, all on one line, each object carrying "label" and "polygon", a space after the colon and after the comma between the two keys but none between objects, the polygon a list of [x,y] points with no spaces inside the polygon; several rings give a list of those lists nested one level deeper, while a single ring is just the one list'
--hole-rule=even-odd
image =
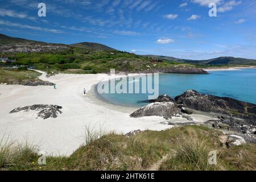
[{"label": "distant low mountain ridge across the water at right", "polygon": [[192,64],[202,64],[202,65],[256,65],[256,60],[254,59],[244,59],[240,57],[217,57],[209,60],[187,60],[187,59],[177,59],[175,57],[169,56],[156,56],[156,55],[145,55],[147,57],[152,57],[155,59],[165,59],[169,61],[179,62],[179,63],[192,63]]}]

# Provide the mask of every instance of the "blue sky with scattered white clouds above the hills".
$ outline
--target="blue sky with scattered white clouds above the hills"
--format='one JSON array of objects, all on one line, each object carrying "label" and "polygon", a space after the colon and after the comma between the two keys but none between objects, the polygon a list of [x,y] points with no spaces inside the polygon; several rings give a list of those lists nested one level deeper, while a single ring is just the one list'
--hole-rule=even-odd
[{"label": "blue sky with scattered white clouds above the hills", "polygon": [[[38,3],[46,3],[46,17]],[[210,17],[209,3],[217,4]],[[254,0],[1,0],[0,32],[51,43],[97,42],[139,55],[256,59]]]}]

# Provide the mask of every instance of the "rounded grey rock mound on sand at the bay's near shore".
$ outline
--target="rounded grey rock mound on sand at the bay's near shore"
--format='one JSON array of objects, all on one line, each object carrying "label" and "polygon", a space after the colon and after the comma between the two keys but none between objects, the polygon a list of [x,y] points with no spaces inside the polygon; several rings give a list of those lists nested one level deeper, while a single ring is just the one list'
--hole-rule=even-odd
[{"label": "rounded grey rock mound on sand at the bay's near shore", "polygon": [[175,115],[181,115],[180,109],[174,102],[154,102],[138,109],[130,117],[139,118],[146,116],[160,116],[171,118]]}]

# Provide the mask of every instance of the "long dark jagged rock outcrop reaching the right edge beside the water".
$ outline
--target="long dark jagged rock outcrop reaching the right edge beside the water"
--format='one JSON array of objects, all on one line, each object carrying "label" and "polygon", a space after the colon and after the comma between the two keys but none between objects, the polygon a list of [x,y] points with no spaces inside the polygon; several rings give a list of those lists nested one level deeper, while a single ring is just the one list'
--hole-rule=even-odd
[{"label": "long dark jagged rock outcrop reaching the right edge beside the water", "polygon": [[188,90],[175,97],[175,100],[177,104],[182,104],[191,109],[256,121],[256,105],[233,98],[205,95],[195,90]]}]

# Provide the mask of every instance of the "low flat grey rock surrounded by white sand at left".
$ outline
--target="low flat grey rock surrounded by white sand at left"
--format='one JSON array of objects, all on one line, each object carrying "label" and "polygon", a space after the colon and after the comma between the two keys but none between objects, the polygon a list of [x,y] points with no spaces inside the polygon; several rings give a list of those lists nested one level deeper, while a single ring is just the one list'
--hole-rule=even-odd
[{"label": "low flat grey rock surrounded by white sand at left", "polygon": [[60,109],[62,109],[62,107],[57,105],[32,105],[25,107],[17,107],[16,109],[10,111],[10,114],[18,113],[20,111],[39,111],[37,113],[38,118],[48,119],[57,118],[57,115],[62,113]]}]

